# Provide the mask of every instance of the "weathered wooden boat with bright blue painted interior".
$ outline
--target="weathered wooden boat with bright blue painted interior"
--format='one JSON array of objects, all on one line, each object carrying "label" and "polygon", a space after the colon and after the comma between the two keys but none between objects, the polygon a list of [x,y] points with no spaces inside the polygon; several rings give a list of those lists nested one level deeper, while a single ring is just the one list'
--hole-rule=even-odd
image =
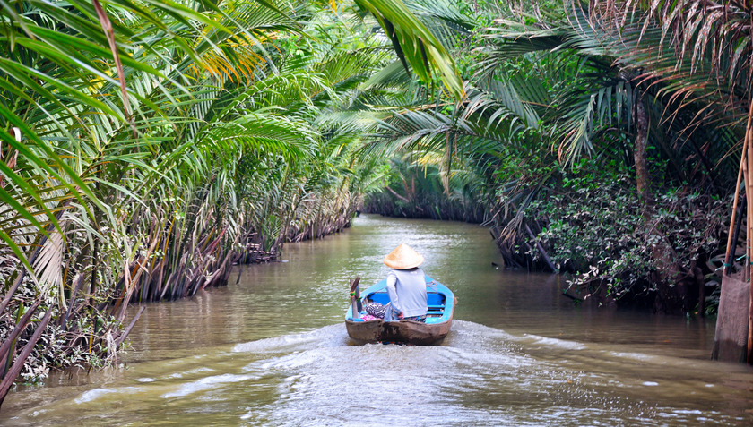
[{"label": "weathered wooden boat with bright blue painted interior", "polygon": [[[363,303],[389,303],[386,279],[369,286],[362,295]],[[441,283],[426,277],[428,312],[426,323],[415,320],[363,320],[353,318],[353,306],[345,313],[348,335],[358,343],[398,342],[420,346],[436,344],[450,331],[453,324],[454,306],[457,303],[453,292]]]}]

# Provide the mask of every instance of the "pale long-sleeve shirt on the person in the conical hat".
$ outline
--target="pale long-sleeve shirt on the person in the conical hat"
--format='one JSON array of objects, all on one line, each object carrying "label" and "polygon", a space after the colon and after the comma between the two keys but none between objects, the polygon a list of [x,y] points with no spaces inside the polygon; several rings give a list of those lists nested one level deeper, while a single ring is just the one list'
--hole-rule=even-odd
[{"label": "pale long-sleeve shirt on the person in the conical hat", "polygon": [[428,307],[423,270],[393,269],[387,274],[386,288],[394,312],[402,312],[403,317],[426,315]]}]

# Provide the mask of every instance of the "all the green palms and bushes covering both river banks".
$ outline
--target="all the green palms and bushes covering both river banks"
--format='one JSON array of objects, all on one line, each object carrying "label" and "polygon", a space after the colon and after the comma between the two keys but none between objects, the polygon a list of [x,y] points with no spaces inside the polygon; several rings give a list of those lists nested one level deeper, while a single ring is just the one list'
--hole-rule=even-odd
[{"label": "all the green palms and bushes covering both river banks", "polygon": [[508,267],[568,272],[579,300],[703,314],[723,265],[749,269],[753,221],[724,226],[753,188],[749,4],[0,15],[0,397],[113,360],[129,303],[225,285],[357,209],[486,224]]}]

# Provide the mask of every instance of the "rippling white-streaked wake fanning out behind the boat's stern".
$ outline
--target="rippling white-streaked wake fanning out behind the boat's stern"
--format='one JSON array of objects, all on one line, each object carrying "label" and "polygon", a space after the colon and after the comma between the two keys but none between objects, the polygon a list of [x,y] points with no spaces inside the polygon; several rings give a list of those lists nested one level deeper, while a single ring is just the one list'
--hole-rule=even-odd
[{"label": "rippling white-streaked wake fanning out behind the boat's stern", "polygon": [[[548,356],[562,352],[567,359]],[[596,420],[606,425],[685,425],[749,420],[743,398],[739,416],[716,412],[714,406],[697,409],[706,397],[713,401],[718,393],[744,393],[710,380],[711,364],[698,369],[681,359],[669,362],[680,363],[684,374],[656,356],[512,336],[463,320],[455,320],[437,346],[357,346],[340,323],[199,356],[138,363],[117,387],[74,389],[69,399],[23,414],[9,425],[65,423],[59,411],[71,406],[84,423],[100,424],[149,424],[155,411],[163,420],[190,420],[186,425],[578,425]],[[694,371],[701,373],[694,377]],[[693,390],[693,406],[688,405],[688,390]],[[103,415],[101,407],[111,410]]]}]

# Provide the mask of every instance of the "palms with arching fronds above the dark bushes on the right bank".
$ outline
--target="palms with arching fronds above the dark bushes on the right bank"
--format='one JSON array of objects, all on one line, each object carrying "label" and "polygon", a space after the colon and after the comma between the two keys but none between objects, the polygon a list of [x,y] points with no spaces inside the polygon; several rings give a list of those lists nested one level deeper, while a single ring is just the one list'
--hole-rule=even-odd
[{"label": "palms with arching fronds above the dark bushes on the right bank", "polygon": [[[541,226],[537,230],[535,221],[524,221],[526,207],[555,191],[567,172],[563,167],[576,167],[583,158],[632,169],[636,190],[648,202],[647,217],[652,211],[648,183],[656,182],[650,174],[661,174],[664,185],[707,186],[710,196],[726,196],[736,170],[727,154],[737,141],[735,134],[743,133],[734,128],[740,116],[730,114],[730,106],[714,95],[723,93],[727,83],[709,81],[711,69],[701,54],[679,60],[670,38],[662,38],[666,26],[641,21],[639,12],[624,13],[633,10],[627,7],[619,9],[623,13],[594,12],[600,4],[587,9],[565,2],[546,11],[535,4],[515,6],[525,10],[499,5],[497,20],[474,40],[476,56],[458,61],[466,70],[473,62],[479,65],[476,73],[466,75],[468,101],[453,107],[441,98],[416,102],[385,120],[373,146],[431,147],[444,150],[446,158],[450,153],[475,158],[480,175],[487,171],[496,177],[489,183],[515,212],[505,216],[500,236],[511,246],[526,243],[515,240],[521,233],[535,243]],[[727,37],[739,35],[725,31]],[[740,34],[737,45],[725,46],[746,52],[746,33]],[[712,56],[714,49],[705,52]],[[725,64],[735,63],[729,70],[740,70],[740,61]],[[747,80],[740,81],[740,88],[746,87]],[[705,120],[714,125],[698,125]],[[517,161],[505,161],[508,156]],[[531,163],[517,167],[521,158]]]}]

